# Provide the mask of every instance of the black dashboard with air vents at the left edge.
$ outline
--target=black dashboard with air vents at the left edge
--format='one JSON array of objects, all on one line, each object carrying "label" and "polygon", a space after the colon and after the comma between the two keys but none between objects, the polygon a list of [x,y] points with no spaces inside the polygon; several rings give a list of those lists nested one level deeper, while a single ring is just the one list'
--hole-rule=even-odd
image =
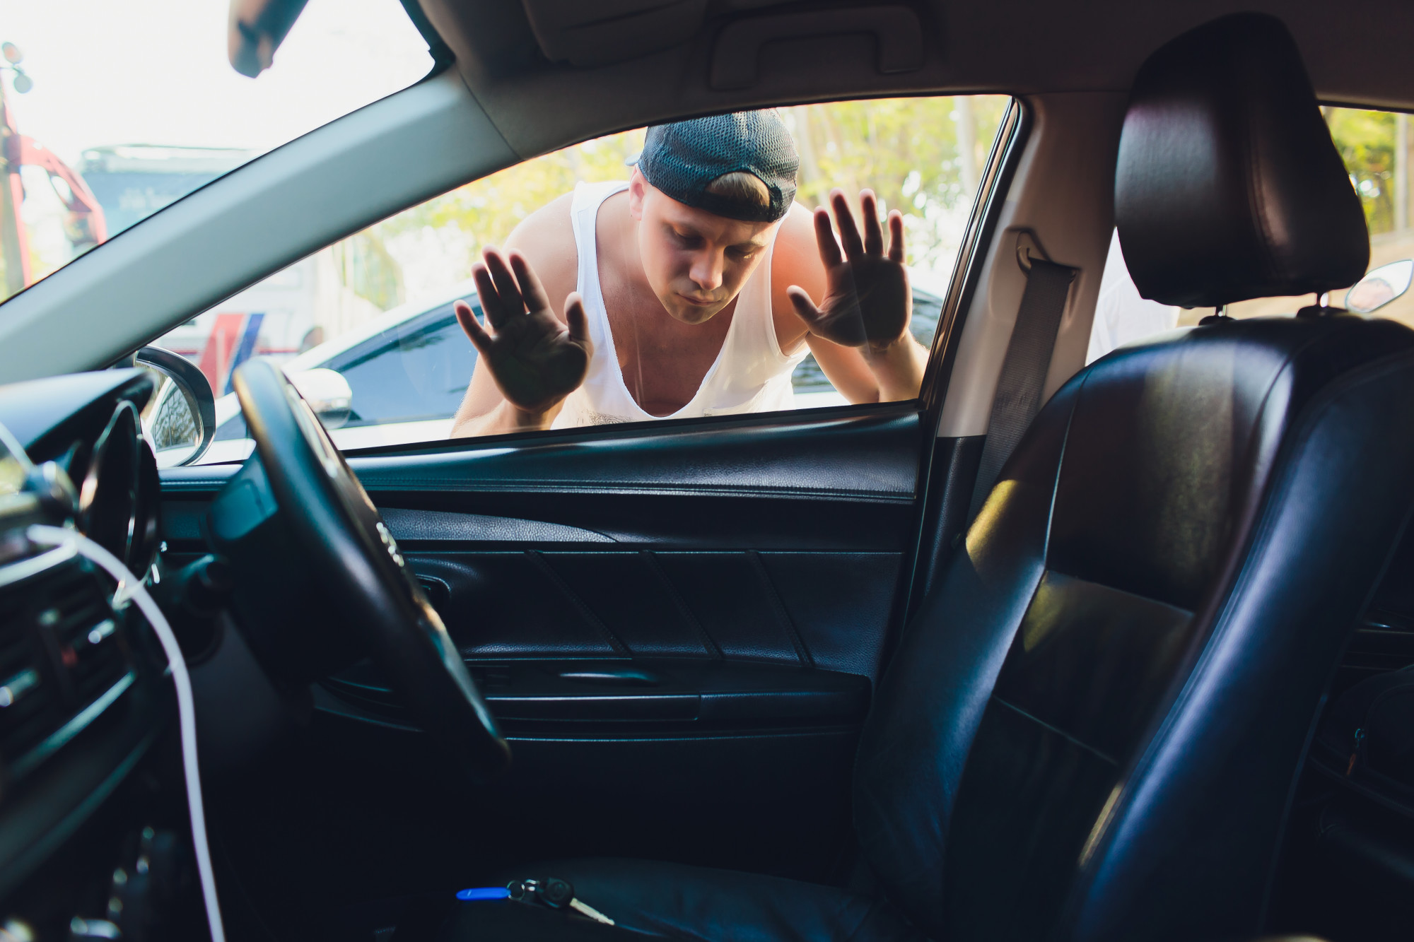
[{"label": "black dashboard with air vents at the left edge", "polygon": [[161,648],[123,587],[25,537],[71,523],[161,580],[151,395],[139,369],[0,388],[24,453],[0,455],[0,942],[204,934]]}]

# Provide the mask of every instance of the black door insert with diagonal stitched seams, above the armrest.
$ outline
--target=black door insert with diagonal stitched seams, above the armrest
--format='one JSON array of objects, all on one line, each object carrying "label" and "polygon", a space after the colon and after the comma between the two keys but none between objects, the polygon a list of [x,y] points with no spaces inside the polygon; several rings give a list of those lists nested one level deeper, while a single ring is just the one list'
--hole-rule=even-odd
[{"label": "black door insert with diagonal stitched seams, above the armrest", "polygon": [[[393,530],[397,536],[397,530]],[[468,658],[707,658],[875,678],[898,553],[406,547]],[[728,590],[730,587],[730,590]]]}]

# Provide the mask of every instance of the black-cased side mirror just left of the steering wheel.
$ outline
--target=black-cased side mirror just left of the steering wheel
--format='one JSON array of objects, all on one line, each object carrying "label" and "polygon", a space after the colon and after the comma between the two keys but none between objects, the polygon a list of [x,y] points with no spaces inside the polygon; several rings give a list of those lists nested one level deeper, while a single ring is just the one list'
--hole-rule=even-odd
[{"label": "black-cased side mirror just left of the steering wheel", "polygon": [[181,354],[144,347],[133,366],[161,375],[157,395],[143,410],[143,434],[153,443],[158,468],[195,464],[216,434],[216,396],[206,375]]}]

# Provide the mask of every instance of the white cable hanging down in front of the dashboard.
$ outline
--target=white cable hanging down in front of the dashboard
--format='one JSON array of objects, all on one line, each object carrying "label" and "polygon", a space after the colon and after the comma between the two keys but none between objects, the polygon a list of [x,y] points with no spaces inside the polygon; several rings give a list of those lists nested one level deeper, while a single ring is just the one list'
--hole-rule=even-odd
[{"label": "white cable hanging down in front of the dashboard", "polygon": [[31,542],[44,546],[74,546],[83,557],[92,560],[112,576],[119,586],[126,586],[124,594],[137,603],[139,611],[153,627],[163,645],[167,663],[171,665],[173,685],[177,687],[177,716],[181,728],[182,769],[187,774],[187,809],[191,812],[191,840],[197,849],[197,873],[201,876],[201,892],[206,901],[206,922],[211,926],[211,942],[226,942],[226,931],[221,924],[221,904],[216,900],[216,874],[211,868],[211,847],[206,843],[206,812],[201,802],[201,772],[197,769],[197,706],[191,697],[191,676],[187,661],[181,656],[181,645],[161,608],[147,594],[143,580],[127,571],[127,567],[106,549],[76,530],[62,526],[31,526],[25,533]]}]

